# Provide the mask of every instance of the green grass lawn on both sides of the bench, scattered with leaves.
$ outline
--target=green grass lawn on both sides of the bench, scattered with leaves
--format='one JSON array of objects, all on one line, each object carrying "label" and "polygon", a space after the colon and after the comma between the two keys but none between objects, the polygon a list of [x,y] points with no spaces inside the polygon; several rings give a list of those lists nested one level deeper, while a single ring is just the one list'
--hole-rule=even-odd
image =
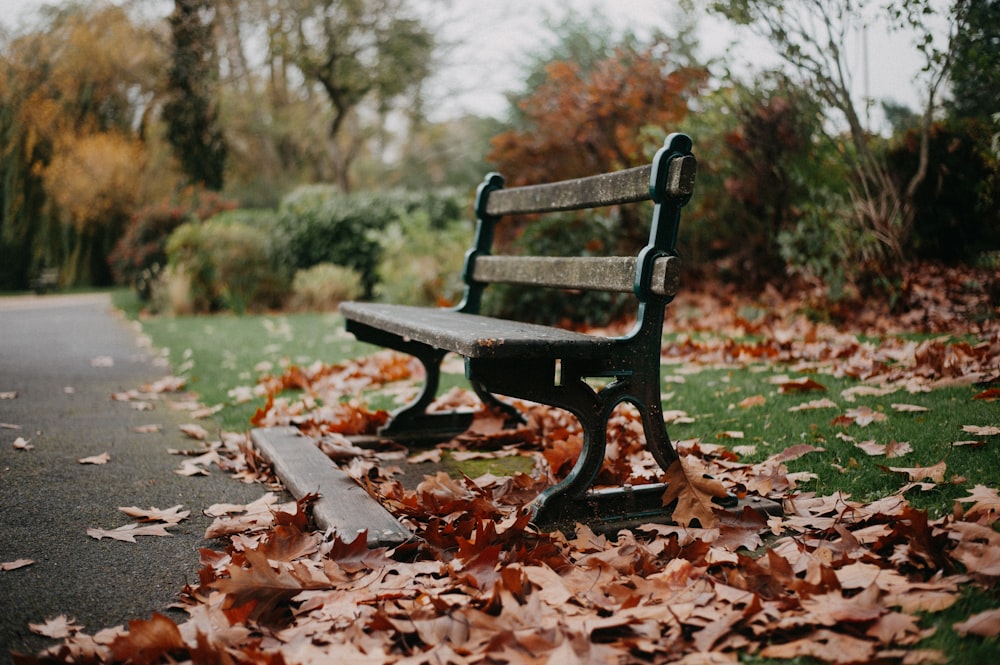
[{"label": "green grass lawn on both sides of the bench, scattered with leaves", "polygon": [[[260,396],[249,401],[242,397],[261,376],[376,350],[346,334],[334,314],[144,318],[141,325],[202,403],[221,407],[216,418],[230,430],[248,428],[250,417],[263,405]],[[963,336],[962,341],[969,339]],[[971,339],[975,350],[977,340]],[[893,344],[926,343],[937,353],[959,348],[953,344],[959,340],[914,334],[856,340],[854,356],[838,356],[836,345],[844,343],[838,337],[832,352],[817,352],[826,360],[813,362],[799,351],[792,352],[794,358],[777,353],[768,357],[775,348],[795,347],[776,344],[759,330],[733,335],[720,329],[697,336],[668,330],[662,374],[671,437],[680,445],[724,445],[748,463],[806,444],[809,452],[788,462],[789,473],[799,474],[800,492],[842,492],[868,503],[905,491],[910,504],[932,519],[949,515],[956,501],[977,485],[1000,486],[1000,436],[991,433],[1000,426],[1000,408],[995,390],[990,390],[997,384],[997,358],[987,358],[985,365],[993,368],[993,375],[985,380],[963,380],[961,372],[955,372],[950,380],[936,382],[912,376],[860,381],[845,367],[850,370],[869,352],[888,346],[895,353]],[[726,353],[718,352],[720,346]],[[695,347],[698,350],[691,351]],[[680,350],[672,355],[670,349]],[[882,370],[898,373],[903,364],[889,362]],[[907,372],[920,374],[921,369]],[[446,384],[443,390],[461,385],[462,379],[449,375]],[[388,405],[384,394],[365,399],[373,406]],[[762,554],[763,548],[754,556]],[[953,625],[997,607],[995,589],[964,587],[949,608],[923,616],[920,626],[931,632],[919,648],[940,650],[950,663],[995,662],[1000,655],[995,637],[963,637]],[[748,656],[743,662],[819,661]]]}]

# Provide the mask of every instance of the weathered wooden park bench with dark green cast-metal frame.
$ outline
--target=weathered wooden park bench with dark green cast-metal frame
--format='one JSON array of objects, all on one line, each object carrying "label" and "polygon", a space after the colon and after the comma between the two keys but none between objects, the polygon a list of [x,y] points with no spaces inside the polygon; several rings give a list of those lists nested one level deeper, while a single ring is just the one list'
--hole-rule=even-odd
[{"label": "weathered wooden park bench with dark green cast-metal frame", "polygon": [[[677,459],[663,422],[660,347],[664,308],[677,293],[680,259],[674,245],[681,207],[691,197],[696,161],[691,139],[671,134],[647,166],[550,184],[504,189],[503,178],[486,176],[479,186],[474,244],[466,253],[464,300],[453,309],[345,302],[347,330],[359,340],[415,356],[426,369],[423,391],[393,414],[379,432],[414,440],[461,432],[465,413],[428,413],[441,362],[449,352],[465,357],[466,377],[489,406],[519,417],[495,395],[565,409],[579,420],[583,445],[562,482],[533,503],[542,528],[625,523],[659,516],[665,485],[593,490],[604,460],[607,421],[616,406],[634,405],[641,414],[646,445],[661,467]],[[491,254],[495,226],[507,215],[550,213],[615,206],[652,199],[648,244],[628,257],[523,257]],[[491,283],[539,288],[633,293],[637,320],[622,337],[600,337],[560,328],[478,314]],[[595,389],[586,381],[610,381]]]}]

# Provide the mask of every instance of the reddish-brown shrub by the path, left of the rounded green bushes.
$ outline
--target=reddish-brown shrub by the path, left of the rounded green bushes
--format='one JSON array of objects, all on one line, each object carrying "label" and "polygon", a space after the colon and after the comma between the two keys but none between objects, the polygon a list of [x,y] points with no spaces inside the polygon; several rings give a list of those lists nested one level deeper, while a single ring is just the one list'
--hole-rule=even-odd
[{"label": "reddish-brown shrub by the path, left of the rounded green bushes", "polygon": [[236,206],[214,192],[188,188],[175,201],[146,206],[132,215],[125,234],[108,256],[111,274],[119,284],[133,287],[143,300],[167,265],[167,238],[181,224],[209,219]]}]

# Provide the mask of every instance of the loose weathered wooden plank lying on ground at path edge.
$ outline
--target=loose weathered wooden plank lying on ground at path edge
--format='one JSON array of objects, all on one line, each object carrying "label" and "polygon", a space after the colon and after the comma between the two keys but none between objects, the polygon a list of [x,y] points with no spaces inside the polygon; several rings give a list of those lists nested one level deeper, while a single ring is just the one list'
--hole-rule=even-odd
[{"label": "loose weathered wooden plank lying on ground at path edge", "polygon": [[367,530],[369,547],[392,547],[413,536],[298,429],[258,428],[250,437],[292,496],[319,494],[313,518],[320,528],[333,529],[344,540]]}]

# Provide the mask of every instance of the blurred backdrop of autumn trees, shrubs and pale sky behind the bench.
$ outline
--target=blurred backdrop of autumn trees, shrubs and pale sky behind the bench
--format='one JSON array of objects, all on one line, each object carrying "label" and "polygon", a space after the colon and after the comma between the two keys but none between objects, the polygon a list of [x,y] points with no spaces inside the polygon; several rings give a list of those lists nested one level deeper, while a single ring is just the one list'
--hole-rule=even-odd
[{"label": "blurred backdrop of autumn trees, shrubs and pale sky behind the bench", "polygon": [[[173,312],[454,302],[487,171],[516,185],[635,166],[673,131],[699,157],[679,240],[696,276],[844,303],[897,297],[928,265],[997,269],[1000,0],[5,0],[0,15],[0,291],[45,275]],[[499,241],[632,252],[646,219],[510,220]],[[549,307],[524,297],[492,306]]]}]

